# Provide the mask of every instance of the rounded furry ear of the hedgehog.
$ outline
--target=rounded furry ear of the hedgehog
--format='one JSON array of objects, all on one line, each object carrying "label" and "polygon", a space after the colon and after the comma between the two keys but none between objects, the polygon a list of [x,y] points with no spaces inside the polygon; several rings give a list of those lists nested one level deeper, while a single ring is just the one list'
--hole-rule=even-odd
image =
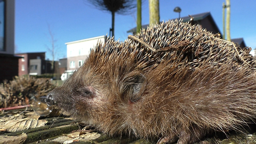
[{"label": "rounded furry ear of the hedgehog", "polygon": [[137,102],[146,89],[147,78],[141,73],[131,72],[124,77],[123,84],[121,92],[124,99]]}]

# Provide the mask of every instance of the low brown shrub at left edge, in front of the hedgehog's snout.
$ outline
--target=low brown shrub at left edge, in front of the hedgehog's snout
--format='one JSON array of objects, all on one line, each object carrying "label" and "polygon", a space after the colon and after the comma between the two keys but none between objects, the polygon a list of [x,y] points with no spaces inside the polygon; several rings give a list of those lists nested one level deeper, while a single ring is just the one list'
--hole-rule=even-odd
[{"label": "low brown shrub at left edge, in front of the hedgehog's snout", "polygon": [[28,105],[34,97],[46,96],[55,87],[49,78],[16,76],[0,85],[0,108]]}]

